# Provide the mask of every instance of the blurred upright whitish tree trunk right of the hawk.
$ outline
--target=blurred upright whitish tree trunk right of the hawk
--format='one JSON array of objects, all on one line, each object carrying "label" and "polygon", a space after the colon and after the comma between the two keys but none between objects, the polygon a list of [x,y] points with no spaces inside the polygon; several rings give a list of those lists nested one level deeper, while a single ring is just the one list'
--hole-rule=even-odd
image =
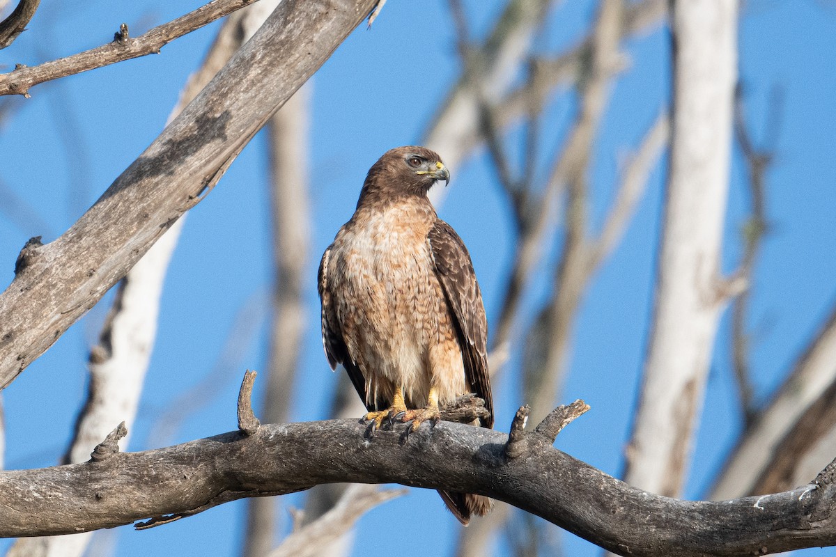
[{"label": "blurred upright whitish tree trunk right of the hawk", "polygon": [[670,168],[652,332],[627,468],[630,484],[680,493],[720,312],[723,222],[737,84],[737,1],[672,4]]}]

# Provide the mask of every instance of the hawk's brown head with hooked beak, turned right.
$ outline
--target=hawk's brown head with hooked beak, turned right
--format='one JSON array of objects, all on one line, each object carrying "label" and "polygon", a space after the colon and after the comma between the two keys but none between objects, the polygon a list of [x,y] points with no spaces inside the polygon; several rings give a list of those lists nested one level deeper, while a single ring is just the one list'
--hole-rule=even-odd
[{"label": "hawk's brown head with hooked beak, turned right", "polygon": [[396,147],[372,165],[363,190],[385,195],[426,195],[437,180],[450,181],[450,171],[441,157],[424,147]]}]

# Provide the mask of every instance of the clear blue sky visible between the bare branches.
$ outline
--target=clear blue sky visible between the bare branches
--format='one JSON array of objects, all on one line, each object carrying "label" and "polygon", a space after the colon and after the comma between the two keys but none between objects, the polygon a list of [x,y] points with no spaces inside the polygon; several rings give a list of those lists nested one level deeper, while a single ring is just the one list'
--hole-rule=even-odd
[{"label": "clear blue sky visible between the bare branches", "polygon": [[[136,35],[198,5],[185,0],[43,0],[29,30],[0,51],[0,71],[105,43],[122,22],[129,23]],[[479,36],[500,6],[477,0],[465,5]],[[572,44],[582,36],[594,5],[585,0],[561,3],[549,20],[548,48]],[[752,293],[751,324],[757,333],[753,381],[763,399],[836,301],[836,5],[813,0],[750,2],[740,29],[741,75],[756,140],[762,138],[770,90],[774,86],[783,90],[777,159],[767,182],[772,232],[764,243]],[[35,215],[21,217],[0,210],[0,261],[7,262],[3,286],[11,281],[15,258],[30,236],[53,240],[160,133],[182,84],[200,63],[216,30],[217,24],[176,40],[159,55],[39,85],[32,90],[32,99],[13,100],[13,110],[0,123],[0,185],[26,200]],[[635,148],[669,94],[667,31],[632,38],[624,48],[630,54],[630,70],[615,84],[589,173],[591,220],[596,227],[612,198],[619,160]],[[353,211],[369,166],[391,147],[420,141],[458,71],[446,3],[391,0],[374,28],[355,31],[310,83],[314,251],[308,262],[308,323],[294,419],[325,418],[337,379],[329,372],[319,341],[315,288],[319,255]],[[559,146],[573,100],[571,94],[558,96],[548,110],[543,133],[552,139],[543,143],[543,160]],[[188,217],[166,281],[159,340],[130,450],[153,448],[148,440],[153,438],[156,420],[179,393],[216,367],[236,320],[251,327],[251,337],[236,357],[222,364],[223,379],[217,389],[183,418],[171,442],[235,428],[242,372],[264,367],[266,316],[258,296],[268,288],[270,258],[263,151],[263,140],[257,136]],[[584,398],[592,410],[561,433],[558,448],[607,473],[619,473],[640,380],[652,307],[664,162],[651,174],[623,243],[594,277],[584,298],[570,373],[559,396],[560,402]],[[482,152],[453,169],[449,195],[440,210],[471,251],[489,320],[499,310],[513,241],[506,200],[492,173]],[[730,175],[726,270],[740,255],[739,229],[748,202],[745,169],[737,150]],[[542,300],[549,277],[548,271],[536,277],[528,314]],[[63,453],[84,395],[86,353],[105,311],[104,302],[95,307],[6,389],[8,468],[48,466]],[[689,498],[700,497],[706,489],[740,428],[728,334],[724,320],[686,489]],[[512,361],[510,372],[495,387],[497,428],[507,428],[515,408],[525,402],[515,383],[517,363]],[[283,499],[284,504],[302,502],[299,495]],[[242,508],[240,502],[226,504],[146,532],[125,527],[108,535],[114,536],[120,555],[234,555],[240,544]],[[410,519],[411,528],[403,527],[407,523],[401,517],[415,513],[421,520]],[[436,494],[413,489],[361,519],[354,554],[451,554],[457,529]],[[598,554],[570,534],[563,539],[567,554]],[[505,550],[503,545],[497,548],[498,554]],[[811,549],[806,554],[836,551]]]}]

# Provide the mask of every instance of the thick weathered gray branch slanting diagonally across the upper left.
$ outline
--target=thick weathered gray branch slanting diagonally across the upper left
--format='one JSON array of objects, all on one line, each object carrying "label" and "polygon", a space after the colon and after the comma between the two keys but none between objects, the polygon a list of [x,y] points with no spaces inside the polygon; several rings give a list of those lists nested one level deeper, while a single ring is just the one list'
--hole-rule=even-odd
[{"label": "thick weathered gray branch slanting diagonally across the upper left", "polygon": [[64,235],[33,247],[0,296],[5,387],[196,205],[374,0],[285,0]]}]

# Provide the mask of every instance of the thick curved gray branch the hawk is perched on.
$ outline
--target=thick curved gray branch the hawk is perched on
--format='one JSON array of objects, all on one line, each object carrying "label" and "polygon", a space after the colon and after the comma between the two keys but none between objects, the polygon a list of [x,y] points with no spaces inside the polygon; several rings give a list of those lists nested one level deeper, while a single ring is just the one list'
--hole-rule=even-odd
[{"label": "thick curved gray branch the hawk is perched on", "polygon": [[[188,516],[316,484],[397,483],[485,494],[619,554],[742,555],[836,544],[830,475],[782,494],[723,502],[630,487],[548,445],[517,458],[507,435],[441,422],[365,436],[356,420],[264,425],[99,463],[0,473],[0,535],[68,534]],[[37,516],[38,520],[32,517]]]}]

